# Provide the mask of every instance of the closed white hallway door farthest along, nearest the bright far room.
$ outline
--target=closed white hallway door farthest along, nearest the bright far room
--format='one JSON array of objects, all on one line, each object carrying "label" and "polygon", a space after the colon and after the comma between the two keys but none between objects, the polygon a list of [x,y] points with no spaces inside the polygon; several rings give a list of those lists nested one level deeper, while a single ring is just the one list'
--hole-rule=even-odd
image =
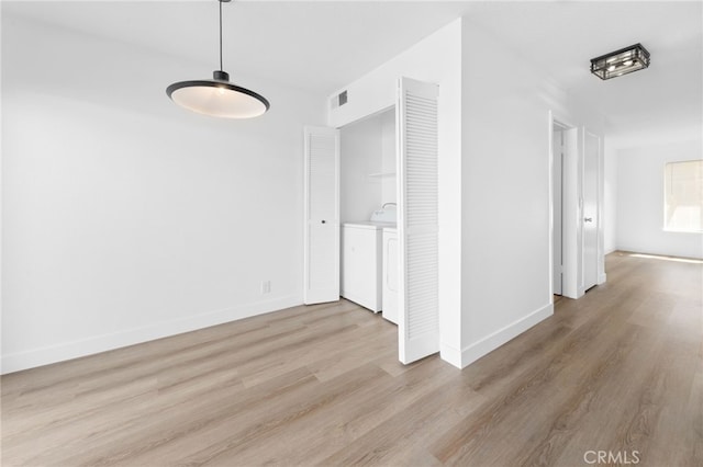
[{"label": "closed white hallway door farthest along, nearest the bright far room", "polygon": [[583,289],[598,283],[598,164],[600,138],[583,135]]}]

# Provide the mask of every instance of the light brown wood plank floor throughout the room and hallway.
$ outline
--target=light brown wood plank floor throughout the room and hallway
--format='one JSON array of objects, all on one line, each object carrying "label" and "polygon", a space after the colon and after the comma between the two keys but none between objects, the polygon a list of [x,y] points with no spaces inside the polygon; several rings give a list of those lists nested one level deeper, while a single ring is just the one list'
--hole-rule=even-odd
[{"label": "light brown wood plank floor throughout the room and hallway", "polygon": [[464,371],[341,301],[5,375],[2,465],[702,466],[702,271],[610,254]]}]

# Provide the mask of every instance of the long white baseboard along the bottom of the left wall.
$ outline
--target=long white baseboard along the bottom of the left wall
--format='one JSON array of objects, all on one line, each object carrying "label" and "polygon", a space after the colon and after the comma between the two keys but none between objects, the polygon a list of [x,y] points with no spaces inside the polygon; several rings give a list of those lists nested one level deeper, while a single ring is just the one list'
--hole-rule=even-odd
[{"label": "long white baseboard along the bottom of the left wall", "polygon": [[65,342],[30,351],[2,355],[0,374],[34,368],[56,362],[92,355],[127,345],[167,338],[183,332],[196,331],[211,326],[222,324],[237,319],[263,315],[283,308],[302,305],[302,297],[289,295],[238,307],[209,311],[194,316],[161,321],[135,329],[93,335],[78,341]]}]

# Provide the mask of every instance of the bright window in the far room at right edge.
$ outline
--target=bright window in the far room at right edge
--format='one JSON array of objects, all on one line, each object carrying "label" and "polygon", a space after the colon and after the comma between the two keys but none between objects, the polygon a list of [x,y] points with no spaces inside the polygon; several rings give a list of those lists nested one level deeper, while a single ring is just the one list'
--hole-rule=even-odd
[{"label": "bright window in the far room at right edge", "polygon": [[667,163],[663,193],[665,230],[703,231],[703,160]]}]

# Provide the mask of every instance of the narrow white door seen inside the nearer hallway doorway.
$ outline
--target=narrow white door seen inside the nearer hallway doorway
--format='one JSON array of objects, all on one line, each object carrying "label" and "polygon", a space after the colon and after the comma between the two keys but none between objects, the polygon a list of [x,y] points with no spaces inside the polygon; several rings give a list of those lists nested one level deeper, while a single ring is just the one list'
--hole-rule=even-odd
[{"label": "narrow white door seen inside the nearer hallway doorway", "polygon": [[554,294],[561,295],[561,277],[562,277],[562,186],[563,186],[563,128],[554,125],[551,138],[551,181],[553,181],[553,235],[554,235],[554,252],[553,252],[553,277]]}]

